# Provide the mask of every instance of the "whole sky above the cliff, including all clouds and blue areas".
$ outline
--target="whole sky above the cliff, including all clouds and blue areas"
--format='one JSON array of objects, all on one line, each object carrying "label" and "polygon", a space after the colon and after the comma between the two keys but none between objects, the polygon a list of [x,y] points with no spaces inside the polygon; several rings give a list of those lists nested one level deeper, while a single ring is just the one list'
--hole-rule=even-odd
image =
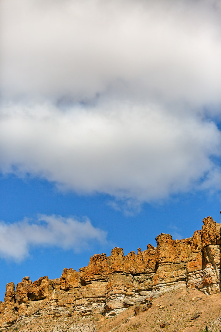
[{"label": "whole sky above the cliff, including all clouds and blue areas", "polygon": [[220,0],[0,0],[0,300],[221,208]]}]

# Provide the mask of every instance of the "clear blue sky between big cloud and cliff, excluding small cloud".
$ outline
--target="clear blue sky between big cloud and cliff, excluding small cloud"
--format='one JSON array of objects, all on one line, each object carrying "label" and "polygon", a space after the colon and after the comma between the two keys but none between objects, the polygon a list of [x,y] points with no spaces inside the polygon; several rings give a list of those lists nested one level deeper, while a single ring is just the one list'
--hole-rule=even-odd
[{"label": "clear blue sky between big cloud and cliff, excluding small cloud", "polygon": [[176,195],[162,204],[144,204],[139,213],[125,216],[107,205],[108,196],[63,194],[39,178],[24,180],[8,176],[1,178],[0,185],[1,218],[7,223],[23,220],[24,215],[37,218],[39,213],[79,218],[86,215],[94,227],[107,231],[106,244],[90,243],[80,252],[56,246],[30,246],[29,256],[21,262],[1,259],[1,300],[6,284],[10,281],[17,284],[26,275],[32,281],[43,275],[59,278],[64,267],[78,270],[89,263],[94,253],[110,255],[114,246],[123,247],[125,254],[137,252],[139,247],[145,250],[148,243],[156,245],[155,237],[161,232],[172,234],[174,239],[190,237],[196,229],[201,229],[205,216],[212,215],[217,222],[220,219],[219,195]]}]

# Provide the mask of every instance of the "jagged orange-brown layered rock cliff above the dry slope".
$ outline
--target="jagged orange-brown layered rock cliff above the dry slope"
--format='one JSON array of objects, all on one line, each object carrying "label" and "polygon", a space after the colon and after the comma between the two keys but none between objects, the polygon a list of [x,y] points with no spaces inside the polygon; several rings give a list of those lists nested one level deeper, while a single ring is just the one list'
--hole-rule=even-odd
[{"label": "jagged orange-brown layered rock cliff above the dry slope", "polygon": [[207,294],[221,291],[221,224],[203,219],[202,230],[193,237],[173,240],[156,237],[157,247],[124,256],[114,248],[111,256],[91,256],[79,272],[64,269],[60,279],[23,278],[6,286],[0,304],[0,327],[8,327],[28,315],[81,316],[95,312],[113,316],[135,303],[145,303],[171,287],[183,286]]}]

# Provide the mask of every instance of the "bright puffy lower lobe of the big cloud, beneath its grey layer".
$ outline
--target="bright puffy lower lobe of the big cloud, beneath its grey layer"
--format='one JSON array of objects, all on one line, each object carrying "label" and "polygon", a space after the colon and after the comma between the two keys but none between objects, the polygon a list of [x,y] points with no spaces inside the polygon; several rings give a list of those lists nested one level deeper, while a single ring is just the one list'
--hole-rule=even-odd
[{"label": "bright puffy lower lobe of the big cloud, beneath its grey layer", "polygon": [[214,123],[154,105],[12,105],[1,113],[0,166],[79,193],[148,201],[191,189],[213,171],[220,143]]}]

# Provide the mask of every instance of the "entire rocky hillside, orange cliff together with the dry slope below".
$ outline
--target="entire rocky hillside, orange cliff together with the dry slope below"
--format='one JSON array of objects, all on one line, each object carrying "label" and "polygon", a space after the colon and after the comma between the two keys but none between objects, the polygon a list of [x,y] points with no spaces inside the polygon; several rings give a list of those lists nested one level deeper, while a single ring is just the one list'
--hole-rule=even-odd
[{"label": "entire rocky hillside, orange cliff together with the dry slope below", "polygon": [[[191,238],[173,240],[161,233],[156,237],[156,248],[148,244],[147,250],[139,248],[137,255],[132,251],[124,256],[122,248],[114,248],[109,257],[91,256],[88,266],[79,272],[65,268],[59,279],[41,277],[32,283],[25,277],[16,290],[9,283],[5,301],[0,304],[0,326],[22,331],[31,324],[33,331],[59,331],[58,325],[66,322],[69,326],[61,327],[64,331],[148,331],[150,320],[155,331],[160,321],[174,325],[174,329],[182,322],[186,331],[189,327],[193,331],[193,326],[197,331],[209,320],[219,319],[220,228],[207,217],[202,230],[196,230]],[[191,301],[193,297],[196,299]],[[134,309],[137,316],[133,316]],[[198,311],[196,320],[191,320]],[[201,325],[196,324],[199,317]],[[127,322],[122,325],[120,319]]]}]

